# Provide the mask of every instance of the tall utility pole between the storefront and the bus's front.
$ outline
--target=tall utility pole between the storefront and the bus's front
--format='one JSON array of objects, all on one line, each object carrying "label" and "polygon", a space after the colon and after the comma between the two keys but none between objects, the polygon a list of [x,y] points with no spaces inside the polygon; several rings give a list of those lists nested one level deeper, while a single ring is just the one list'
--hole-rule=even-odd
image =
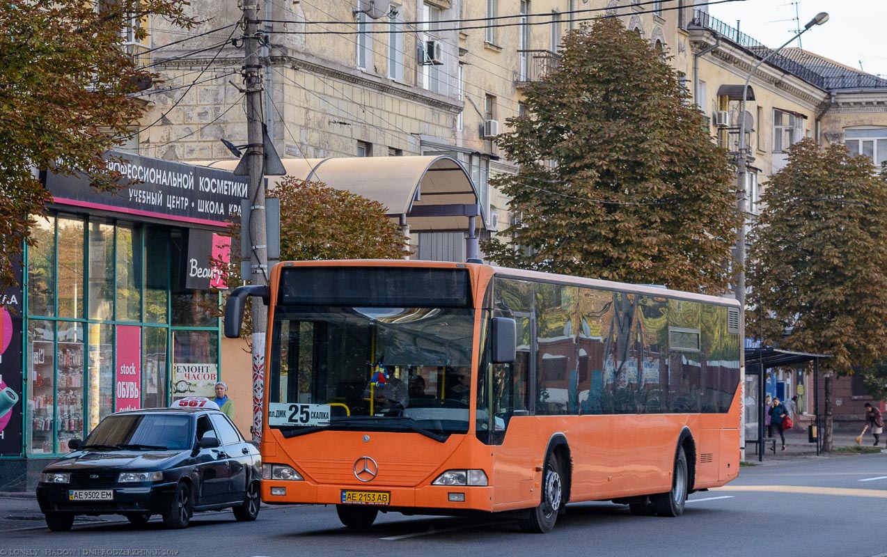
[{"label": "tall utility pole between the storefront and the bus's front", "polygon": [[[242,0],[246,58],[240,74],[243,75],[247,95],[247,157],[249,184],[249,231],[241,231],[240,241],[249,242],[249,261],[254,286],[268,285],[267,231],[265,230],[264,144],[262,114],[262,70],[259,52],[259,0]],[[247,278],[247,277],[244,277]],[[268,308],[255,299],[253,318],[253,439],[262,437],[262,404],[265,375],[265,332],[268,328]]]}]

